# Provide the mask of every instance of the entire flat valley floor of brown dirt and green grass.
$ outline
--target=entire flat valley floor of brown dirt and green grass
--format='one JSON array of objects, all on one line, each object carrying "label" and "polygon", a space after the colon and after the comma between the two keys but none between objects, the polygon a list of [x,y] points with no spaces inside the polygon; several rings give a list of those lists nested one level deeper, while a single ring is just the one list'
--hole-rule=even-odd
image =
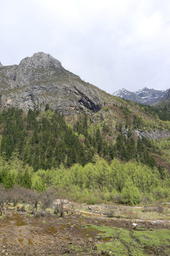
[{"label": "entire flat valley floor of brown dirt and green grass", "polygon": [[0,255],[169,255],[168,206],[162,213],[128,206],[74,208],[63,218],[6,208],[0,218]]}]

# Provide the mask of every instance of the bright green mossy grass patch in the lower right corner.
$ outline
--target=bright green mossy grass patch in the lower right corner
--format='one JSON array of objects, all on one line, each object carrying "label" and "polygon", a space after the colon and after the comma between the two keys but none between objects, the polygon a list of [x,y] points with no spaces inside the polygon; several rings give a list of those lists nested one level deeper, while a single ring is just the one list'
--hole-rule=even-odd
[{"label": "bright green mossy grass patch in the lower right corner", "polygon": [[169,247],[170,230],[166,229],[125,230],[123,228],[96,225],[90,225],[89,228],[101,232],[97,235],[98,238],[101,238],[100,244],[96,244],[99,251],[111,251],[118,256],[145,256],[148,253],[156,252],[159,255],[166,255],[167,247]]}]

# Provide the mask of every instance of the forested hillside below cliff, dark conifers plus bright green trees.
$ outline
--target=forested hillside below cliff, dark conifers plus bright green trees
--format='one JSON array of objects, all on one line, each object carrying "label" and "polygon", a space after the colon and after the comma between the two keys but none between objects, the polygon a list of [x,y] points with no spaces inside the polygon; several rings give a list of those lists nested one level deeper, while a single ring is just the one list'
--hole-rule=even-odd
[{"label": "forested hillside below cliff, dark conifers plus bright green trees", "polygon": [[155,119],[146,107],[135,114],[133,107],[106,106],[72,117],[49,106],[45,112],[3,110],[1,185],[38,192],[54,186],[62,197],[89,203],[167,199],[170,141],[148,139],[145,130],[168,131],[169,122]]}]

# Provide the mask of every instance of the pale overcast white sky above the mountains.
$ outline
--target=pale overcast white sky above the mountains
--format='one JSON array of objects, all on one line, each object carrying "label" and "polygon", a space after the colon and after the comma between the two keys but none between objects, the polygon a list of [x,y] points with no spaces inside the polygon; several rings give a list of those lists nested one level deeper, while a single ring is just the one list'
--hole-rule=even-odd
[{"label": "pale overcast white sky above the mountains", "polygon": [[170,87],[169,0],[0,0],[0,61],[43,51],[86,82]]}]

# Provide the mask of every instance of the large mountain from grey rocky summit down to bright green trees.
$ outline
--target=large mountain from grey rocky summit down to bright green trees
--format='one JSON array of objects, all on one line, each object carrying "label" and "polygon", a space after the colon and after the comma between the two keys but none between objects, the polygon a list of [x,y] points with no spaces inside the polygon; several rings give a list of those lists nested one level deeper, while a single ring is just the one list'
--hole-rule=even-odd
[{"label": "large mountain from grey rocky summit down to bright green trees", "polygon": [[[161,92],[124,94],[150,100]],[[52,186],[82,202],[87,195],[90,202],[96,195],[132,204],[148,195],[169,200],[170,115],[164,108],[109,95],[45,53],[1,66],[0,95],[0,186],[38,192]],[[126,191],[134,201],[121,199]]]}]

